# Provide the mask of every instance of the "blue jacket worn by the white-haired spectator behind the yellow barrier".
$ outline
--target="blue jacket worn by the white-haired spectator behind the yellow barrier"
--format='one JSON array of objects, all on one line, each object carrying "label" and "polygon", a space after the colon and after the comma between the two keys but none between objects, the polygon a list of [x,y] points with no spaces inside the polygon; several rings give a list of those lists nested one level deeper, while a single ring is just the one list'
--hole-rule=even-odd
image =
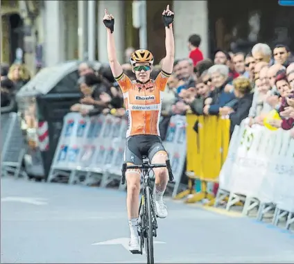
[{"label": "blue jacket worn by the white-haired spectator behind the yellow barrier", "polygon": [[211,91],[209,97],[212,98],[212,103],[209,107],[209,114],[217,115],[220,107],[224,107],[227,103],[236,98],[234,93],[225,92],[225,85],[227,85],[227,82],[225,82],[222,87]]}]

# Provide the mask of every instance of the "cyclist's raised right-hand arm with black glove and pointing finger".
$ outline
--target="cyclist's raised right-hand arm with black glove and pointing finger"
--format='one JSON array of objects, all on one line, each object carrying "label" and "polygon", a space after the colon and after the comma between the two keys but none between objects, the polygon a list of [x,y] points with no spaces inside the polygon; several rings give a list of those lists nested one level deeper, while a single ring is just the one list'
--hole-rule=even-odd
[{"label": "cyclist's raised right-hand arm with black glove and pointing finger", "polygon": [[175,39],[173,38],[173,12],[169,10],[169,5],[166,10],[162,13],[164,18],[164,26],[166,31],[166,56],[162,62],[162,71],[166,73],[171,73],[173,71],[173,62],[175,60]]}]

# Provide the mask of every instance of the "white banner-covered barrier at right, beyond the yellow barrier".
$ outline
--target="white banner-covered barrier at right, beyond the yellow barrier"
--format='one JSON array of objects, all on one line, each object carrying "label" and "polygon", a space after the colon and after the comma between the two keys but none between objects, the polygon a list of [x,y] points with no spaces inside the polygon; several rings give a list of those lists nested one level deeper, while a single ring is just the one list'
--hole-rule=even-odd
[{"label": "white banner-covered barrier at right, beyond the yellow barrier", "polygon": [[225,164],[220,171],[218,206],[229,196],[226,209],[245,202],[243,214],[258,209],[257,219],[275,210],[273,224],[286,217],[294,222],[294,139],[289,131],[236,126]]}]

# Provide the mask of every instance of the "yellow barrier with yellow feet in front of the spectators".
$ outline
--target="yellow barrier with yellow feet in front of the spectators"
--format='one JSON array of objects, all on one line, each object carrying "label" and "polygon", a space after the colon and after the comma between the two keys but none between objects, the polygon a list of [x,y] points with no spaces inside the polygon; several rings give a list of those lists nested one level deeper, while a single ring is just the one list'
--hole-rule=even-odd
[{"label": "yellow barrier with yellow feet in front of the spectators", "polygon": [[[197,131],[197,132],[196,132]],[[220,168],[227,157],[230,142],[230,119],[218,116],[187,114],[187,176],[188,190],[175,199],[192,194],[185,202],[208,199],[214,204],[214,195],[207,193],[207,182],[218,182]],[[201,191],[196,193],[193,183],[200,179]]]}]

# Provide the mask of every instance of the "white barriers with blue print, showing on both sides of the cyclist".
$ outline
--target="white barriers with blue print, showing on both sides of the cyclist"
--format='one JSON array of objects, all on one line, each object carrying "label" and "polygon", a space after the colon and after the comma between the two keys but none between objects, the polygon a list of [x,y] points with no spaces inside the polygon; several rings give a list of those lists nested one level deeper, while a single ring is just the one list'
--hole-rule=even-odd
[{"label": "white barriers with blue print, showing on both sides of the cyclist", "polygon": [[[64,116],[48,181],[63,176],[69,184],[100,182],[102,187],[120,182],[127,125],[126,119],[112,115],[89,118],[69,113]],[[186,158],[185,127],[185,116],[172,116],[164,141],[175,178],[173,195],[178,191]],[[120,184],[119,188],[126,186]]]}]

